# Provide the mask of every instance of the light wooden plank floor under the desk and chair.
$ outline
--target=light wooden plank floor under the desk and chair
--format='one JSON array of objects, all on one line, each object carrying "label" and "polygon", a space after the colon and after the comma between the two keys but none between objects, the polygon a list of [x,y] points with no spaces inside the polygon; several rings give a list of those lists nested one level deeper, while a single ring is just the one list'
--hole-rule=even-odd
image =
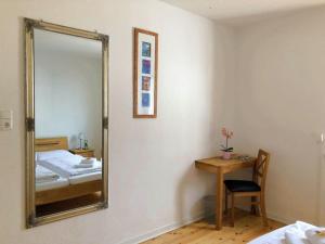
[{"label": "light wooden plank floor under the desk and chair", "polygon": [[230,227],[227,218],[224,218],[224,227],[221,231],[214,229],[213,219],[200,220],[143,244],[239,244],[285,226],[270,220],[270,227],[264,228],[260,217],[238,209],[235,216],[234,228]]}]

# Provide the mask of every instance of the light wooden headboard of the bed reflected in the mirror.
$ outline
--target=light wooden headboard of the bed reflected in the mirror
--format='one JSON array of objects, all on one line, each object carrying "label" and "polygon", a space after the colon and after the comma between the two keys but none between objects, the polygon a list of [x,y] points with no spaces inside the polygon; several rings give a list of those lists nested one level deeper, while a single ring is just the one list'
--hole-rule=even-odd
[{"label": "light wooden headboard of the bed reflected in the mirror", "polygon": [[66,137],[35,139],[35,152],[68,150]]}]

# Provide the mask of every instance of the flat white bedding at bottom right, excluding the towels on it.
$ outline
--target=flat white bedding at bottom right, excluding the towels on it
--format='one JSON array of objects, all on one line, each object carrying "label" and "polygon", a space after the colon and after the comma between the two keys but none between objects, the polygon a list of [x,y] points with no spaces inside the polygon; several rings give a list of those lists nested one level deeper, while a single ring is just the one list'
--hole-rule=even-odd
[{"label": "flat white bedding at bottom right, excluding the towels on it", "polygon": [[294,224],[283,227],[268,234],[264,234],[256,240],[252,240],[248,244],[286,244],[285,242],[286,232],[296,233],[297,235],[302,236],[302,241],[306,242],[303,240],[304,232],[311,228],[315,228],[315,226],[302,221],[297,221]]}]

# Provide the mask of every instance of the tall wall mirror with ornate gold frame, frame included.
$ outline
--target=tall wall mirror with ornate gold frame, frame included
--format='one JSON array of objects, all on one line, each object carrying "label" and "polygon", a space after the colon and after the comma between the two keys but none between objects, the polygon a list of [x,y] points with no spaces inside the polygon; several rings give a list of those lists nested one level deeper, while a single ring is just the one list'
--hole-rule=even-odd
[{"label": "tall wall mirror with ornate gold frame, frame included", "polygon": [[25,18],[27,227],[107,207],[108,37]]}]

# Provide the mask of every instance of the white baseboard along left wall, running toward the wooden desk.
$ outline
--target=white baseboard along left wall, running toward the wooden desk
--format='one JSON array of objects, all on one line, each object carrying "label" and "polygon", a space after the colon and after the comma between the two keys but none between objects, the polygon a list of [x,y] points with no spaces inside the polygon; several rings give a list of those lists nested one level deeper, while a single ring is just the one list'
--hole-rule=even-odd
[{"label": "white baseboard along left wall, running toward the wooden desk", "polygon": [[129,240],[125,240],[125,241],[119,242],[117,244],[138,244],[138,243],[141,243],[141,242],[145,242],[147,240],[151,240],[151,239],[156,237],[158,235],[161,235],[161,234],[165,234],[167,232],[173,231],[176,229],[187,226],[190,223],[202,220],[204,218],[205,218],[205,214],[202,213],[202,214],[197,215],[196,217],[187,218],[185,220],[178,221],[178,222],[174,222],[174,223],[170,223],[170,224],[167,224],[167,226],[164,226],[164,227],[158,227],[158,228],[156,228],[156,229],[154,229],[154,230],[152,230],[152,231],[150,231],[145,234],[141,234],[141,235],[131,237]]}]

